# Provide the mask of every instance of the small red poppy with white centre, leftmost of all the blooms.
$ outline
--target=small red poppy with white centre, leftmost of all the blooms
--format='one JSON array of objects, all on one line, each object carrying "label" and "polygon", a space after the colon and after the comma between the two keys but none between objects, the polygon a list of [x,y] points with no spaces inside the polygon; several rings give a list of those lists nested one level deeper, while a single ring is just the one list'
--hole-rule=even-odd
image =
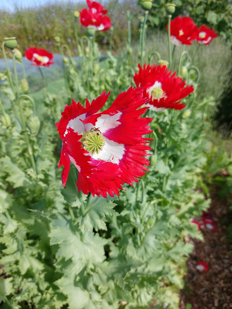
[{"label": "small red poppy with white centre, leftmost of all the blooms", "polygon": [[35,47],[29,47],[26,49],[25,56],[31,61],[33,66],[50,66],[54,62],[53,54],[49,53],[46,49],[38,49]]}]

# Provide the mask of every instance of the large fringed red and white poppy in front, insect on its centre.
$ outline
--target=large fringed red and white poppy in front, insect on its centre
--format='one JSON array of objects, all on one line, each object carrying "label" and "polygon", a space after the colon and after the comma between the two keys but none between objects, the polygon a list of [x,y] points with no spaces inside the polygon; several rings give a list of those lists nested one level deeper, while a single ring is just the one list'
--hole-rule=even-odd
[{"label": "large fringed red and white poppy in front, insect on its centre", "polygon": [[[76,182],[78,191],[94,196],[118,195],[122,184],[131,184],[148,171],[149,165],[145,145],[151,133],[148,123],[152,118],[141,118],[147,107],[142,88],[122,92],[110,108],[98,112],[110,93],[105,91],[90,104],[86,99],[85,108],[72,101],[66,105],[61,120],[56,123],[62,148],[59,166],[64,166],[62,183],[65,186],[70,162],[79,171]],[[138,109],[139,108],[139,109]]]}]

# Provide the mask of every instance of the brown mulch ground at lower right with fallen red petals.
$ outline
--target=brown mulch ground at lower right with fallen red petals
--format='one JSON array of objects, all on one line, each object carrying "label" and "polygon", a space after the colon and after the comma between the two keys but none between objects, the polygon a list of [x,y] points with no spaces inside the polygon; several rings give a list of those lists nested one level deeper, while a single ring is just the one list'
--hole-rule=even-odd
[{"label": "brown mulch ground at lower right with fallen red petals", "polygon": [[[212,216],[216,231],[201,226],[204,242],[190,239],[195,248],[187,260],[186,287],[180,292],[180,308],[190,303],[193,309],[232,308],[232,241],[227,227],[232,222],[230,203],[218,197],[219,188],[211,190]],[[201,217],[195,218],[200,221]],[[198,261],[205,261],[208,271],[196,269]]]}]

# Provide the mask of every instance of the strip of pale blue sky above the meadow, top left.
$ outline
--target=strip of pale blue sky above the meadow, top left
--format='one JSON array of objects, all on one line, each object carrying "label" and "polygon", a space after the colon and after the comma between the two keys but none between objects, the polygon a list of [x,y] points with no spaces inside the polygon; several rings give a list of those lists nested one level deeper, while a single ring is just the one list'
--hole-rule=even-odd
[{"label": "strip of pale blue sky above the meadow, top left", "polygon": [[41,6],[47,3],[55,3],[55,2],[69,2],[69,1],[68,0],[60,0],[60,1],[56,1],[56,0],[0,0],[0,9],[12,12],[14,11],[15,4],[19,8],[28,8],[28,7],[36,7],[36,6]]}]

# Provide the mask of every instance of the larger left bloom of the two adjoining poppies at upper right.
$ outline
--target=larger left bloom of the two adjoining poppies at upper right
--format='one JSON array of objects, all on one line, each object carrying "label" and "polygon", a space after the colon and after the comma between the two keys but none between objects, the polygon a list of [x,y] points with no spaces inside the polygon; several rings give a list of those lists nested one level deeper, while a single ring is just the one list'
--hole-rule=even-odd
[{"label": "larger left bloom of the two adjoining poppies at upper right", "polygon": [[[168,29],[168,25],[167,25]],[[172,44],[191,45],[198,36],[198,28],[189,17],[176,17],[170,24],[170,41]]]}]

